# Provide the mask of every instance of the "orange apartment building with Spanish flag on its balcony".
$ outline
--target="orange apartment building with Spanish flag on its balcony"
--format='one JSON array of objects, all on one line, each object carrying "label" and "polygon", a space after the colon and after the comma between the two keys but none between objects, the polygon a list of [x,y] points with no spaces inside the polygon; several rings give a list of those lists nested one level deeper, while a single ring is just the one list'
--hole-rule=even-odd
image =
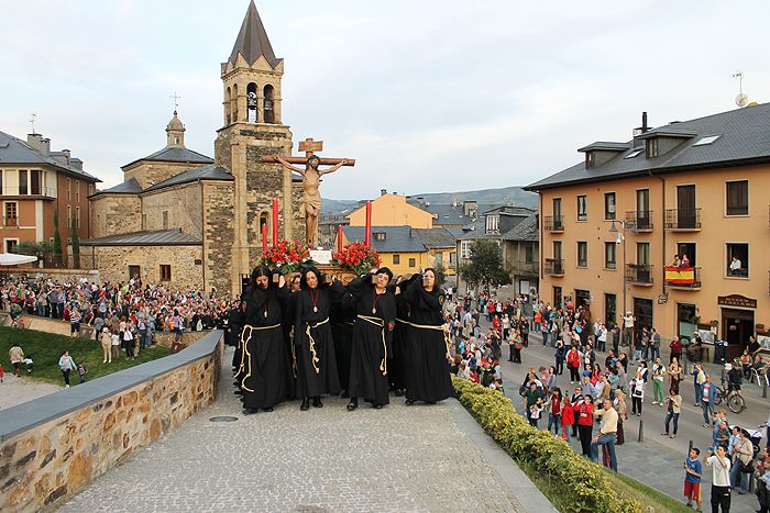
[{"label": "orange apartment building with Spanish flag on its balcony", "polygon": [[[579,149],[540,196],[540,295],[637,317],[637,332],[722,338],[770,323],[770,104]],[[770,338],[762,338],[765,344]]]}]

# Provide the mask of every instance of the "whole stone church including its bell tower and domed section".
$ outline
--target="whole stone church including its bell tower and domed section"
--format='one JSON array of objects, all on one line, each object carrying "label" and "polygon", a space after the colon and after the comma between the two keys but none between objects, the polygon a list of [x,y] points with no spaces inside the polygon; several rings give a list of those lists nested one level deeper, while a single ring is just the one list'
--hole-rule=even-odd
[{"label": "whole stone church including its bell tower and domed section", "polygon": [[92,254],[102,280],[204,285],[240,293],[272,238],[271,205],[279,203],[280,238],[305,239],[301,177],[263,155],[289,155],[292,131],[280,114],[284,60],[276,58],[254,2],[232,53],[221,65],[223,125],[215,158],[185,146],[174,112],[166,146],[122,167],[124,181],[90,196]]}]

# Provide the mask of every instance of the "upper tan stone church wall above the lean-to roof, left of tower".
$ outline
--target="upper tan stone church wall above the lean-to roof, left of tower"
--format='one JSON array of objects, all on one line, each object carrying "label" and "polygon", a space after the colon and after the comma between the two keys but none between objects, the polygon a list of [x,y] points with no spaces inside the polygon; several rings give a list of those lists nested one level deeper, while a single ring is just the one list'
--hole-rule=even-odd
[{"label": "upper tan stone church wall above the lean-to roof, left of tower", "polygon": [[[180,228],[185,233],[202,236],[200,188],[200,183],[190,182],[142,194],[144,230]],[[168,215],[166,227],[163,225],[163,212]]]}]

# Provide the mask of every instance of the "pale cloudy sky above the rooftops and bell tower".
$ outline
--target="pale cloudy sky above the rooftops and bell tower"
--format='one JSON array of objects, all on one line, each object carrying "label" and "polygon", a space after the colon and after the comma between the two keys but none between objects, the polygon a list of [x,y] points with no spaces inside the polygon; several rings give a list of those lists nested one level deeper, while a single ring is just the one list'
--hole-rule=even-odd
[{"label": "pale cloudy sky above the rooftops and bell tower", "polygon": [[[258,0],[297,142],[355,158],[324,198],[522,186],[594,141],[770,100],[770,2]],[[249,0],[2,0],[0,131],[99,177],[165,146],[213,157],[220,63]]]}]

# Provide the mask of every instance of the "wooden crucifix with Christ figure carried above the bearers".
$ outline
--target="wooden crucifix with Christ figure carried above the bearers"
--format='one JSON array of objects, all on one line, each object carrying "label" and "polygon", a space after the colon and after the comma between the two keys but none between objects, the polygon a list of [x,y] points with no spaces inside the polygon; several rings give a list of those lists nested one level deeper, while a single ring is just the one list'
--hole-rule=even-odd
[{"label": "wooden crucifix with Christ figure carried above the bearers", "polygon": [[[263,163],[277,163],[289,171],[297,171],[302,175],[302,201],[301,212],[305,213],[305,242],[308,247],[316,247],[316,235],[318,232],[318,215],[321,213],[321,194],[318,186],[321,177],[334,172],[342,166],[355,166],[354,159],[348,158],[320,158],[315,152],[323,150],[323,141],[314,141],[308,137],[299,142],[299,150],[305,152],[305,157],[282,157],[280,155],[265,155]],[[305,168],[295,167],[292,164],[305,164]],[[319,169],[318,166],[331,166],[327,169]]]}]

